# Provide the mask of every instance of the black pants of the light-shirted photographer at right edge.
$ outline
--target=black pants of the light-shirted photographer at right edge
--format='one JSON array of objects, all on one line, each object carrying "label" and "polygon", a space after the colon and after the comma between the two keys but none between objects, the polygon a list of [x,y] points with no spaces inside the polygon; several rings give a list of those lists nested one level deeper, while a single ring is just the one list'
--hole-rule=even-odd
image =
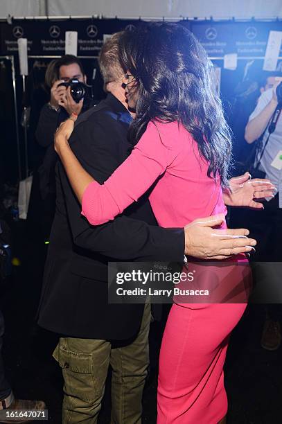
[{"label": "black pants of the light-shirted photographer at right edge", "polygon": [[[282,194],[281,194],[282,195]],[[282,208],[279,208],[279,193],[263,202],[263,211],[234,209],[231,211],[231,228],[247,228],[250,236],[258,242],[251,262],[282,262]],[[256,282],[254,282],[256,283]],[[265,305],[267,315],[274,321],[282,321],[281,303]]]}]

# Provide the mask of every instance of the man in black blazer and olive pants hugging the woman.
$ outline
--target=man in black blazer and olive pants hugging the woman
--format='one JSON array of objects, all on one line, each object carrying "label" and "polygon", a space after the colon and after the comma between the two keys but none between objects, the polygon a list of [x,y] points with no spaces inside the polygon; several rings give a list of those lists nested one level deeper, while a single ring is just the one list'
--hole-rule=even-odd
[{"label": "man in black blazer and olive pants hugging the woman", "polygon": [[[107,98],[78,119],[70,144],[82,166],[103,183],[129,154],[131,121],[121,86],[118,39],[103,46],[100,69]],[[39,325],[60,333],[55,359],[64,376],[64,423],[96,423],[112,366],[112,422],[141,423],[141,399],[148,368],[150,307],[107,302],[111,260],[182,262],[184,252],[217,258],[247,245],[213,237],[216,222],[185,229],[157,227],[146,195],[107,224],[91,227],[80,214],[62,164],[58,164],[57,204],[46,260]],[[211,221],[211,218],[209,218]],[[229,235],[244,235],[229,230]],[[239,241],[240,240],[240,241]],[[243,247],[239,250],[244,251]],[[224,250],[223,250],[224,251]]]}]

